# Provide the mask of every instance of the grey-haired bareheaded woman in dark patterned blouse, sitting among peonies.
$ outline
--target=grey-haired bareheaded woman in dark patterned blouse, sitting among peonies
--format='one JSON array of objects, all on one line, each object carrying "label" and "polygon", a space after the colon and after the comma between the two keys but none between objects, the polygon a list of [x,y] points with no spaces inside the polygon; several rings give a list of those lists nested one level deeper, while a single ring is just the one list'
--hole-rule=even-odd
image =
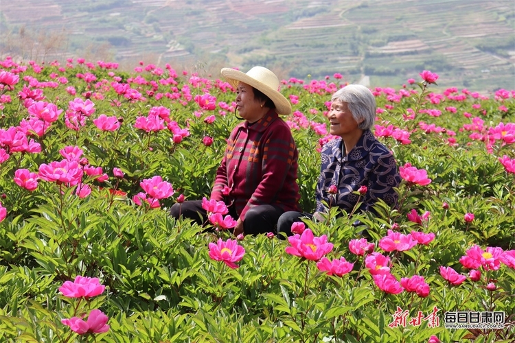
[{"label": "grey-haired bareheaded woman in dark patterned blouse, sitting among peonies", "polygon": [[[277,224],[278,233],[291,235],[291,226],[301,217],[321,219],[326,204],[339,206],[350,213],[359,201],[358,211],[374,211],[379,200],[394,205],[400,177],[395,158],[370,131],[376,119],[376,99],[360,84],[349,84],[331,97],[327,115],[330,133],[339,136],[326,143],[321,152],[321,169],[317,183],[317,210],[314,215],[286,212]],[[365,187],[363,187],[365,186]],[[360,191],[363,195],[356,195]]]}]

